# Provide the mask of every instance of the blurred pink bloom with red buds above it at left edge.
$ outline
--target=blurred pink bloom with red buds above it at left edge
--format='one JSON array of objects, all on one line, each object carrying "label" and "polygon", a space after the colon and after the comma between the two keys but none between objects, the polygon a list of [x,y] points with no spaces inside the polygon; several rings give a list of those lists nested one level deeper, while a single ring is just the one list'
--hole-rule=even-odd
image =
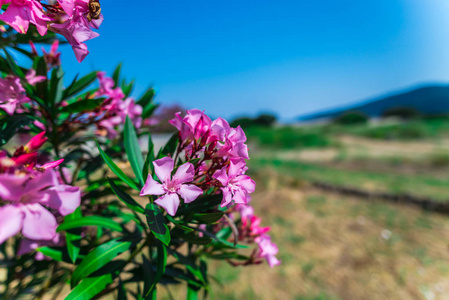
[{"label": "blurred pink bloom with red buds above it at left edge", "polygon": [[80,205],[79,188],[61,184],[55,172],[63,160],[41,164],[37,151],[47,140],[44,135],[34,136],[11,157],[0,152],[0,244],[19,232],[33,241],[58,239],[57,217]]}]

